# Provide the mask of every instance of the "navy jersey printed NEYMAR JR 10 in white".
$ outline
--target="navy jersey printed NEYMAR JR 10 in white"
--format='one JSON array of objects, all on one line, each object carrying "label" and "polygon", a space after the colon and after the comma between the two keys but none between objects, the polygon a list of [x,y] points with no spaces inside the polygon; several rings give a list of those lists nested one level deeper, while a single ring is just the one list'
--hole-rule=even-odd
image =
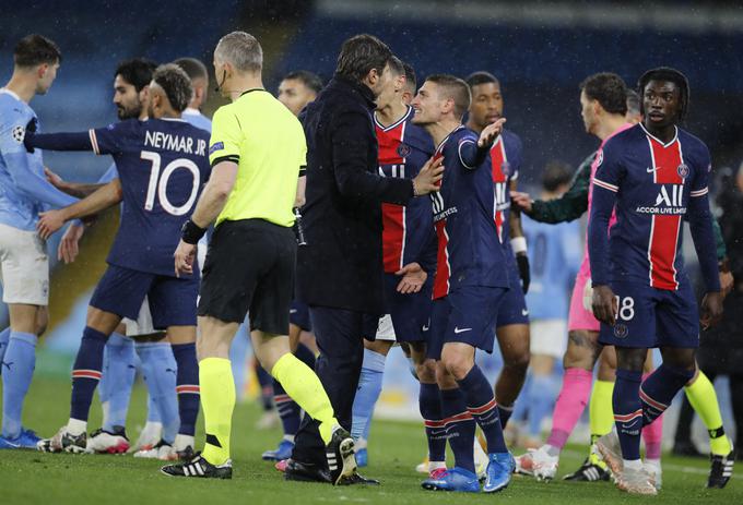
[{"label": "navy jersey printed NEYMAR JR 10 in white", "polygon": [[180,228],[211,173],[209,132],[179,119],[132,119],[90,130],[90,136],[96,154],[114,157],[123,191],[107,262],[175,276]]}]

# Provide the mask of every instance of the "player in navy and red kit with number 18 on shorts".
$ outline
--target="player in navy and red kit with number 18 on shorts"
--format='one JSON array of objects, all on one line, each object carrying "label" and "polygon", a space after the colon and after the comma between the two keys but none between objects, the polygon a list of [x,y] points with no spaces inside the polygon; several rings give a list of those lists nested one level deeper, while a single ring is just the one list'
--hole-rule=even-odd
[{"label": "player in navy and red kit with number 18 on shorts", "polygon": [[[644,122],[610,139],[597,155],[588,244],[593,313],[599,340],[616,348],[614,420],[618,434],[597,442],[617,486],[656,494],[642,467],[639,436],[693,376],[699,322],[722,313],[708,202],[711,170],[707,146],[677,123],[688,109],[689,88],[679,71],[659,68],[639,80]],[[616,224],[609,220],[616,209]],[[707,294],[697,311],[681,254],[682,223],[688,220]],[[647,349],[659,347],[663,363],[641,381]],[[732,471],[731,453],[720,457]]]}]

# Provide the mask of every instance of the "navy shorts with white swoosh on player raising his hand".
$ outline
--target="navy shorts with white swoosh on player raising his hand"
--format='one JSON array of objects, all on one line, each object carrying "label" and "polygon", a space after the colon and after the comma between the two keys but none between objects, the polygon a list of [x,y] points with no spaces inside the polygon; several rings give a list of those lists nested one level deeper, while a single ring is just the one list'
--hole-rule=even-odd
[{"label": "navy shorts with white swoosh on player raising his hand", "polygon": [[464,286],[434,300],[426,356],[440,360],[447,342],[493,352],[498,310],[507,292],[507,288]]}]

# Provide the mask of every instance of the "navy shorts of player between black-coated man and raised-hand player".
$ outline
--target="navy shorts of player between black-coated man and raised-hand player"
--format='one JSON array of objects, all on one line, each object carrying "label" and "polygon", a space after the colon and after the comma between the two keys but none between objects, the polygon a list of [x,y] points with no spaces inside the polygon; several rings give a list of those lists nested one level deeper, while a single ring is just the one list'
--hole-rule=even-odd
[{"label": "navy shorts of player between black-coated man and raised-hand player", "polygon": [[416,293],[399,293],[398,284],[400,276],[385,274],[385,304],[387,313],[392,317],[394,337],[397,341],[425,341],[423,328],[431,317],[434,276],[428,276]]}]

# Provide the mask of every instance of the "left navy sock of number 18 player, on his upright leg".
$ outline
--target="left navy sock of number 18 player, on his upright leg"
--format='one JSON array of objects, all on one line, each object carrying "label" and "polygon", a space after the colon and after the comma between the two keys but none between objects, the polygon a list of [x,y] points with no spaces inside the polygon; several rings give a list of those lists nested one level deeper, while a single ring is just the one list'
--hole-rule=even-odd
[{"label": "left navy sock of number 18 player, on his upright leg", "polygon": [[614,423],[620,436],[622,457],[627,460],[640,458],[640,433],[642,432],[642,405],[640,383],[642,372],[617,369],[614,383]]}]

